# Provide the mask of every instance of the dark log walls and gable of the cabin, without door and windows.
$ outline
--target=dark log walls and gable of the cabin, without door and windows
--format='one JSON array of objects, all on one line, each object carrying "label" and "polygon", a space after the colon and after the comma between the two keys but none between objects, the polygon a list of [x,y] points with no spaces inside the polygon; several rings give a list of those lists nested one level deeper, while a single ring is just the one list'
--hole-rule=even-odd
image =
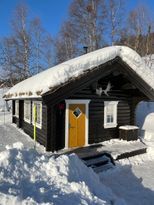
[{"label": "dark log walls and gable of the cabin, without door and windows", "polygon": [[[117,75],[117,73],[119,73]],[[109,95],[96,95],[96,88],[100,85],[105,89],[108,82],[113,86]],[[123,89],[128,84],[130,89]],[[134,85],[135,88],[131,88]],[[149,92],[150,91],[150,92]],[[62,149],[65,146],[65,108],[60,109],[59,104],[65,105],[65,99],[89,99],[89,143],[102,142],[111,138],[118,138],[118,126],[133,124],[135,106],[139,100],[154,99],[154,92],[128,65],[119,58],[100,65],[93,70],[86,71],[76,79],[71,79],[65,85],[55,88],[42,97],[42,129],[37,128],[37,141],[46,146],[47,151]],[[104,101],[119,101],[118,126],[104,129]],[[20,116],[22,118],[22,103]],[[13,121],[33,137],[33,125]]]}]

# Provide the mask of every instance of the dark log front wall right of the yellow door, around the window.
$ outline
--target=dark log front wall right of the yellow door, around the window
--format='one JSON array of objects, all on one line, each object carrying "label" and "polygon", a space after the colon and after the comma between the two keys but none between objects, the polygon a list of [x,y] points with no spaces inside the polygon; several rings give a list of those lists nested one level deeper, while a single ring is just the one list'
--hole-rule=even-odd
[{"label": "dark log front wall right of the yellow door, around the window", "polygon": [[118,128],[104,128],[104,101],[119,101],[117,110],[118,126],[130,124],[130,96],[120,90],[113,90],[109,96],[97,96],[91,85],[71,96],[71,99],[90,99],[89,104],[89,144],[118,138]]}]

